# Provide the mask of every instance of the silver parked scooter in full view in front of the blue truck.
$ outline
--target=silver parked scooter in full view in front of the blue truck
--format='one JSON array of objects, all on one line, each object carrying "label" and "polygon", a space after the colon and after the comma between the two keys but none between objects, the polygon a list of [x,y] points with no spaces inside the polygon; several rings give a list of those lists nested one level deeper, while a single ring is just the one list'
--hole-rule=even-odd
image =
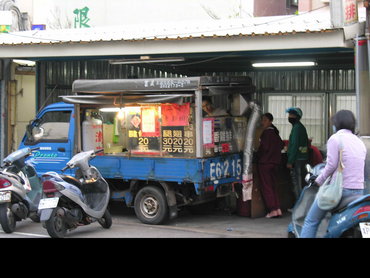
[{"label": "silver parked scooter in full view in front of the blue truck", "polygon": [[109,229],[112,217],[107,209],[110,190],[107,181],[89,161],[99,151],[80,152],[62,169],[77,167],[75,177],[47,172],[42,175],[43,199],[39,203],[40,220],[53,238],[95,221]]}]

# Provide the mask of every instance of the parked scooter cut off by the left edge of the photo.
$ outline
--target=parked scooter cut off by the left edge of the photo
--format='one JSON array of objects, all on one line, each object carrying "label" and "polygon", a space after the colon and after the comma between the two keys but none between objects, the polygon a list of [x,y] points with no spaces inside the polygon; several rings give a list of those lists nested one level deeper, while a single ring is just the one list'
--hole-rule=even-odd
[{"label": "parked scooter cut off by the left edge of the photo", "polygon": [[39,148],[22,148],[3,160],[0,170],[0,223],[5,233],[15,231],[17,221],[31,218],[40,222],[37,214],[42,186],[35,168],[25,159]]}]

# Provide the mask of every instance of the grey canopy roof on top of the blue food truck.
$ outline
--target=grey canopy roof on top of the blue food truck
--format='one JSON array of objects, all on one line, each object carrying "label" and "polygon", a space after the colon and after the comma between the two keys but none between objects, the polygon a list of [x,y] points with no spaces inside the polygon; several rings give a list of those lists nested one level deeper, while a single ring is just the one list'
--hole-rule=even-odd
[{"label": "grey canopy roof on top of the blue food truck", "polygon": [[79,104],[179,103],[190,92],[206,89],[209,95],[254,91],[247,76],[200,76],[184,78],[75,80],[64,102]]}]

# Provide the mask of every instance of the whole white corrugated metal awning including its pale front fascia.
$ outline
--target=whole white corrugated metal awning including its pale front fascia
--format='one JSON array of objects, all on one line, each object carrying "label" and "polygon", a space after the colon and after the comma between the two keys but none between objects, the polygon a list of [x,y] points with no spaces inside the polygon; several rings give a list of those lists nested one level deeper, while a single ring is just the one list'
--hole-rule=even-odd
[{"label": "whole white corrugated metal awning including its pale front fascia", "polygon": [[[355,31],[362,23],[353,25]],[[359,33],[359,32],[357,32]],[[0,34],[0,58],[161,55],[303,48],[348,48],[327,13],[180,21]],[[16,47],[16,51],[14,51]]]}]

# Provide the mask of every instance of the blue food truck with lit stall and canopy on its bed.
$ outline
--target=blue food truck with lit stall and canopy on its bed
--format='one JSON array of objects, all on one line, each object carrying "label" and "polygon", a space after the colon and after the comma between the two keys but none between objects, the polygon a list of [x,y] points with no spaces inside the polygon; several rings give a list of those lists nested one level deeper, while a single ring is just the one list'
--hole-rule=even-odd
[{"label": "blue food truck with lit stall and canopy on its bed", "polygon": [[[29,158],[39,175],[104,149],[91,163],[111,199],[160,224],[241,183],[253,93],[248,77],[75,80],[70,95],[30,122],[20,148],[39,147]],[[205,97],[227,113],[205,115]]]}]

